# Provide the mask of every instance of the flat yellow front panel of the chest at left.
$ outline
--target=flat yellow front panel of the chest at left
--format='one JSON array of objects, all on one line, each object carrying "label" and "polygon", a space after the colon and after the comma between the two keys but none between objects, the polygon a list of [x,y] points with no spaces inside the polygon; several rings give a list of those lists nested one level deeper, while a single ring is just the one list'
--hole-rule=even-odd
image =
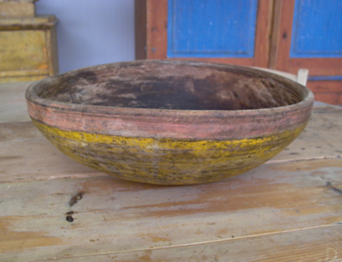
[{"label": "flat yellow front panel of the chest at left", "polygon": [[38,69],[48,74],[45,31],[0,31],[0,61],[0,71]]}]

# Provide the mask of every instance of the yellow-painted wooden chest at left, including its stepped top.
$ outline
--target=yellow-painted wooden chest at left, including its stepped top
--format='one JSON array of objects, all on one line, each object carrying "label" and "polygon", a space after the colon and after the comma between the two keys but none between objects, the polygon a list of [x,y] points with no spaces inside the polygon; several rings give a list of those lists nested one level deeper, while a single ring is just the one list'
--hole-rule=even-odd
[{"label": "yellow-painted wooden chest at left, including its stepped top", "polygon": [[36,0],[0,0],[0,83],[58,72],[54,15],[35,16]]}]

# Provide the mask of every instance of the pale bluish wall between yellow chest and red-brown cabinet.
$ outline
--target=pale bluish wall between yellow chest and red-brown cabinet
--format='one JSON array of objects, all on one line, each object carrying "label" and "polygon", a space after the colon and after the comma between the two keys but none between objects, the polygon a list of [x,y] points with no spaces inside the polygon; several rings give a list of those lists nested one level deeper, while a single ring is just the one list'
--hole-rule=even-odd
[{"label": "pale bluish wall between yellow chest and red-brown cabinet", "polygon": [[39,0],[58,18],[59,72],[134,60],[134,0]]}]

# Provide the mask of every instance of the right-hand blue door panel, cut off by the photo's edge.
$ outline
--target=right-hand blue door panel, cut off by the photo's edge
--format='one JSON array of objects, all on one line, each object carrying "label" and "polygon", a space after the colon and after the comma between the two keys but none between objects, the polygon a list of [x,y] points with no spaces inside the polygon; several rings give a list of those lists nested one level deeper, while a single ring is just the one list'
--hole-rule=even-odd
[{"label": "right-hand blue door panel, cut off by the photo's edge", "polygon": [[296,0],[291,57],[342,57],[342,0]]}]

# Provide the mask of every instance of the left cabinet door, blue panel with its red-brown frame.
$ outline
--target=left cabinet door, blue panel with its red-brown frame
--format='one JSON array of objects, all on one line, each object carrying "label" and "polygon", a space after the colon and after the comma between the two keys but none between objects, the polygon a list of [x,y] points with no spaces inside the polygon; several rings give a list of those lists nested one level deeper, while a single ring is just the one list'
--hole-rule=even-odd
[{"label": "left cabinet door, blue panel with its red-brown frame", "polygon": [[135,0],[137,57],[268,67],[273,1]]}]

